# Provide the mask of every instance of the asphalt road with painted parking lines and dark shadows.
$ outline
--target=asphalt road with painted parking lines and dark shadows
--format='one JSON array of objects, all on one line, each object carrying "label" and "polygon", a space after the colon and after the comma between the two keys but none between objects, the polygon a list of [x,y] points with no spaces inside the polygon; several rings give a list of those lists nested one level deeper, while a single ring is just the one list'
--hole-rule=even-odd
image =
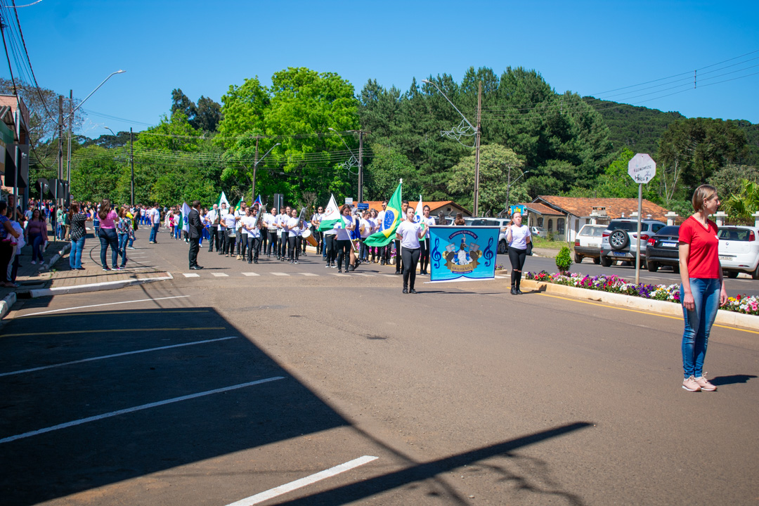
[{"label": "asphalt road with painted parking lines and dark shadows", "polygon": [[3,504],[757,504],[756,332],[689,393],[677,318],[159,241],[174,280],[4,320]]}]

